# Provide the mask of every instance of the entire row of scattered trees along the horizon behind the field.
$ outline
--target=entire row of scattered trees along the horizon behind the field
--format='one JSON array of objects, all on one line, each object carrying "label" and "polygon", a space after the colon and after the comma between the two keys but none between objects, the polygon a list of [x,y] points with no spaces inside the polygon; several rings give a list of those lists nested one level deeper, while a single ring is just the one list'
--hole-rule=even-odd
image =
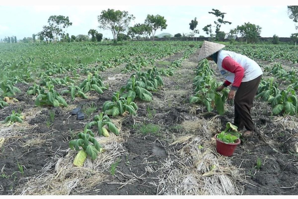
[{"label": "entire row of scattered trees along the horizon behind the field", "polygon": [[[288,15],[289,18],[293,19],[295,22],[295,28],[298,30],[298,6],[288,6]],[[208,12],[216,17],[216,20],[213,24],[207,24],[202,30],[207,34],[209,41],[222,41],[226,33],[221,31],[222,25],[232,24],[230,21],[225,21],[224,17],[226,13],[221,12],[220,10],[212,9],[211,12]],[[114,9],[103,10],[97,20],[99,22],[99,28],[102,30],[110,30],[113,35],[113,40],[115,42],[128,40],[128,39],[141,39],[141,38],[156,38],[155,33],[157,30],[165,30],[167,28],[167,20],[164,16],[160,15],[147,15],[143,23],[134,24],[134,26],[129,26],[131,21],[135,17],[132,14],[129,14],[127,11],[120,11]],[[65,33],[65,29],[72,25],[72,22],[69,21],[67,16],[50,16],[48,19],[48,25],[43,26],[41,32],[33,34],[32,38],[24,38],[22,42],[36,42],[36,37],[39,41],[46,42],[60,41],[60,42],[73,42],[73,41],[89,41],[91,36],[91,41],[101,41],[103,39],[103,34],[98,33],[95,29],[90,29],[88,35],[78,35],[78,36],[69,36],[68,33]],[[175,37],[194,37],[199,34],[200,31],[196,29],[198,25],[197,18],[195,17],[189,23],[190,33],[177,33]],[[246,39],[246,43],[255,43],[260,37],[262,27],[250,22],[244,23],[243,25],[238,25],[234,29],[230,29],[229,36],[240,35]],[[167,37],[167,36],[164,36]],[[203,37],[203,36],[200,36]],[[298,40],[298,33],[291,34],[293,41]],[[5,37],[4,40],[1,39],[1,42],[7,43],[16,43],[16,37]],[[278,36],[273,36],[273,43],[278,43]]]}]

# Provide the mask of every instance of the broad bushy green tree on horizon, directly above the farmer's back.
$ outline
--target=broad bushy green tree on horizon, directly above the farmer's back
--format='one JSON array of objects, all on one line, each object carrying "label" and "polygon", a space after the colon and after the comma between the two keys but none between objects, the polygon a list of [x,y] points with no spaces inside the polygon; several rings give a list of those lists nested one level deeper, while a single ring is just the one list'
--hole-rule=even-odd
[{"label": "broad bushy green tree on horizon, directly above the farmer's back", "polygon": [[256,24],[244,23],[241,26],[237,26],[236,33],[239,33],[242,37],[246,38],[246,43],[255,43],[260,37],[262,28]]}]

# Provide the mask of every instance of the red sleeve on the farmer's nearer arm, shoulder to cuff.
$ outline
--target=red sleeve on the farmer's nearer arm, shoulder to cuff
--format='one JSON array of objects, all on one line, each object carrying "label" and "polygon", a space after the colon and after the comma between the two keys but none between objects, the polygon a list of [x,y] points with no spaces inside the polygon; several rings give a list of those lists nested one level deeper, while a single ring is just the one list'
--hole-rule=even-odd
[{"label": "red sleeve on the farmer's nearer arm, shoulder to cuff", "polygon": [[240,64],[238,64],[234,59],[232,59],[229,56],[226,56],[223,59],[221,66],[225,70],[228,70],[232,73],[235,73],[235,78],[234,78],[234,82],[232,84],[232,87],[236,87],[236,90],[237,90],[237,88],[240,86],[241,81],[242,81],[243,76],[244,76],[243,67],[241,67]]}]

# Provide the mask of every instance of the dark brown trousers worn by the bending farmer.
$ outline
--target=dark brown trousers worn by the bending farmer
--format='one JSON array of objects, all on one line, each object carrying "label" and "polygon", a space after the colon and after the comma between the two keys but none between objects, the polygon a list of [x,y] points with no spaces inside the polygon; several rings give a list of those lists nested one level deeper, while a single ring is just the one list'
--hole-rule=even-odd
[{"label": "dark brown trousers worn by the bending farmer", "polygon": [[241,82],[240,87],[236,92],[234,98],[234,125],[237,126],[239,130],[242,130],[243,127],[249,131],[255,130],[254,123],[250,116],[250,109],[252,108],[254,96],[257,93],[261,78],[262,75],[251,81]]}]

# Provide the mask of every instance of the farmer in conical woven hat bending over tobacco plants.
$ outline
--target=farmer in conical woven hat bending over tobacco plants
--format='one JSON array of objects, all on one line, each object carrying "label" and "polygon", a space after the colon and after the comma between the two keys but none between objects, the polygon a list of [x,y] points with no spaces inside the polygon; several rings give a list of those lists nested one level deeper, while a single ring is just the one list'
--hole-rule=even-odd
[{"label": "farmer in conical woven hat bending over tobacco plants", "polygon": [[255,127],[250,116],[254,96],[257,93],[263,72],[260,66],[245,55],[221,50],[225,45],[204,41],[198,55],[198,61],[207,58],[215,61],[226,81],[216,91],[221,91],[232,84],[228,100],[234,99],[234,125],[239,130],[246,128],[243,136],[253,134]]}]

